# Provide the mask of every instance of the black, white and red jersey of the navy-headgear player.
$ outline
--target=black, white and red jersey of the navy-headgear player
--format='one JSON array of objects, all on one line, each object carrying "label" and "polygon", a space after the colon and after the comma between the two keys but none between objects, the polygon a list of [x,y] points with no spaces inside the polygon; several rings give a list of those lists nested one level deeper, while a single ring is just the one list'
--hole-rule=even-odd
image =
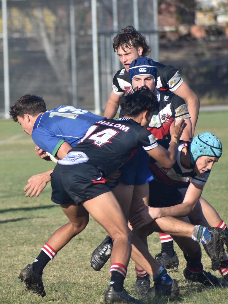
[{"label": "black, white and red jersey of the navy-headgear player", "polygon": [[149,127],[157,139],[166,138],[173,119],[190,118],[183,98],[170,92],[157,91],[159,108],[154,112]]}]

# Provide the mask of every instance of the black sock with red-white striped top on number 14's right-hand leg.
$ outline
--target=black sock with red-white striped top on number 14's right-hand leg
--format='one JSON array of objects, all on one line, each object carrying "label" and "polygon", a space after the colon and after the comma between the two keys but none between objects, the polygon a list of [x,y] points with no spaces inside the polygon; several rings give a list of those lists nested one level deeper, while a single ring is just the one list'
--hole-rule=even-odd
[{"label": "black sock with red-white striped top on number 14's right-hand leg", "polygon": [[122,292],[123,281],[127,274],[127,267],[120,263],[113,263],[109,272],[111,273],[110,285],[116,292]]}]

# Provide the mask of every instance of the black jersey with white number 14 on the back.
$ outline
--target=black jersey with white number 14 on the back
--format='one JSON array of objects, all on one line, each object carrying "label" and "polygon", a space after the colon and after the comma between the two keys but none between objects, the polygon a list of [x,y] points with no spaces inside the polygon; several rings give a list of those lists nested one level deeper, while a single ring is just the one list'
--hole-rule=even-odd
[{"label": "black jersey with white number 14 on the back", "polygon": [[138,148],[151,150],[157,146],[154,135],[133,119],[102,119],[88,129],[63,160],[58,161],[55,171],[64,170],[68,165],[71,170],[80,164],[83,168],[86,163],[106,176],[120,168]]}]

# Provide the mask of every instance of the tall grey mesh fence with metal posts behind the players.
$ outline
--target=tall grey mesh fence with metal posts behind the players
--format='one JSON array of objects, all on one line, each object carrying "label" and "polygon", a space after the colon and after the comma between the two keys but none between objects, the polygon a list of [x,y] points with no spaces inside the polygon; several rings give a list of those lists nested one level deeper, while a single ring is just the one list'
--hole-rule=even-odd
[{"label": "tall grey mesh fence with metal posts behind the players", "polygon": [[[158,60],[157,0],[7,0],[10,105],[33,93],[43,96],[48,109],[62,104],[95,109],[92,2],[97,10],[101,111],[121,67],[112,51],[112,39],[120,28],[139,29],[152,47],[150,56]],[[4,115],[1,20],[0,113]]]}]

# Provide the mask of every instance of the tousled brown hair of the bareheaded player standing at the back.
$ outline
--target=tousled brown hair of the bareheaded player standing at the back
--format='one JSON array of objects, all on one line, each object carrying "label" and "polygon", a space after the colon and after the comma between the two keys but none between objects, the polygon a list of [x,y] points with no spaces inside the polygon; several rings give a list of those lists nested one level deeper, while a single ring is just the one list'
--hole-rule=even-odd
[{"label": "tousled brown hair of the bareheaded player standing at the back", "polygon": [[117,52],[119,47],[122,47],[123,50],[129,47],[135,47],[136,49],[142,47],[142,57],[147,57],[151,51],[146,38],[143,37],[139,31],[136,31],[133,26],[127,26],[125,29],[121,29],[113,38],[112,47],[114,52]]}]

